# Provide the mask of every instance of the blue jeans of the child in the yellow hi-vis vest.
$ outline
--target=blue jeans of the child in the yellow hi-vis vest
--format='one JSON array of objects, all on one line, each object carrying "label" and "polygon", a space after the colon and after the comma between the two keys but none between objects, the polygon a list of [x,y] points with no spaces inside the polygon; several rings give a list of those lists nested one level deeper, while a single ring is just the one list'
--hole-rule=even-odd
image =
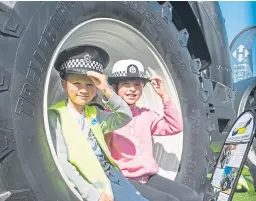
[{"label": "blue jeans of the child in the yellow hi-vis vest", "polygon": [[115,168],[111,168],[109,180],[111,182],[115,201],[148,201],[123,176],[123,174]]}]

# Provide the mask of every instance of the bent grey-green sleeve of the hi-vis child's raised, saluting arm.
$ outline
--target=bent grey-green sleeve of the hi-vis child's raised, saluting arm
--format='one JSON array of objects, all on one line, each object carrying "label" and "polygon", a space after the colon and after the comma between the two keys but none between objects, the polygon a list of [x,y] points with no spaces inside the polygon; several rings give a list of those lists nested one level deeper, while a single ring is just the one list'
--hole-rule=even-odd
[{"label": "bent grey-green sleeve of the hi-vis child's raised, saluting arm", "polygon": [[97,113],[104,134],[121,128],[131,121],[132,113],[129,106],[116,93],[113,92],[112,97],[108,101],[103,100],[103,103],[111,110],[111,112],[98,110]]}]

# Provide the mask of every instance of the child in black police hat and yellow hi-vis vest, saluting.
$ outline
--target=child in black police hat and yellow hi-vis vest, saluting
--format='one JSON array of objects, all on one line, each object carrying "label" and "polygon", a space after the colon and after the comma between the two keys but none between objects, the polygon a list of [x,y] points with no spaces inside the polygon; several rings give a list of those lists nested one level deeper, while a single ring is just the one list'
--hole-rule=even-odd
[{"label": "child in black police hat and yellow hi-vis vest, saluting", "polygon": [[[103,75],[108,61],[103,49],[90,45],[60,53],[55,68],[68,98],[49,109],[53,143],[63,170],[83,200],[146,201],[120,173],[104,141],[103,134],[131,119],[128,105]],[[88,105],[97,90],[112,113]]]}]

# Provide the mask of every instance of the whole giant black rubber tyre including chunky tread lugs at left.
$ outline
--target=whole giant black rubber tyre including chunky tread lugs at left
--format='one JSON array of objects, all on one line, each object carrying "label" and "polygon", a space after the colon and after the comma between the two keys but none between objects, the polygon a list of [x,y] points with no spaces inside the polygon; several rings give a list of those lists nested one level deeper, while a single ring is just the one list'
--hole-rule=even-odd
[{"label": "whole giant black rubber tyre including chunky tread lugs at left", "polygon": [[7,200],[78,200],[49,149],[43,120],[44,81],[52,53],[64,35],[98,17],[133,26],[164,59],[184,119],[184,148],[176,180],[200,191],[209,134],[199,95],[198,65],[179,41],[174,23],[167,23],[160,11],[156,2],[0,3],[0,200],[8,192]]}]

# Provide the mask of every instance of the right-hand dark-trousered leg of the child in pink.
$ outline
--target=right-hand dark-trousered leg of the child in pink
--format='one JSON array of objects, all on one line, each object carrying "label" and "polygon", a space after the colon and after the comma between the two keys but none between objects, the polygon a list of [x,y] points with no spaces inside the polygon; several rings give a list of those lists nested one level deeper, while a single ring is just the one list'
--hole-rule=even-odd
[{"label": "right-hand dark-trousered leg of the child in pink", "polygon": [[179,184],[172,180],[161,177],[159,175],[152,176],[149,179],[147,184],[157,190],[163,191],[165,193],[169,193],[177,197],[180,201],[202,200],[202,198],[199,196],[199,194],[195,190],[183,184]]}]

